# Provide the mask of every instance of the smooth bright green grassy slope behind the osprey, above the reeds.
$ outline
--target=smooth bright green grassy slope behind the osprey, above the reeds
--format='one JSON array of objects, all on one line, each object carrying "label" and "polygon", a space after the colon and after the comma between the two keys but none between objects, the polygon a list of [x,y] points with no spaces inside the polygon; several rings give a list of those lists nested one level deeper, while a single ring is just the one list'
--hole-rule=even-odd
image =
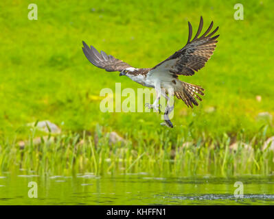
[{"label": "smooth bright green grassy slope behind the osprey, above the reeds", "polygon": [[[190,123],[198,133],[250,137],[274,113],[272,40],[273,1],[244,2],[244,21],[233,18],[237,1],[71,1],[38,2],[38,20],[27,19],[27,1],[2,1],[0,7],[0,133],[26,138],[26,123],[51,120],[63,131],[94,130],[96,125],[119,133],[158,129],[160,116],[148,113],[100,112],[102,88],[115,92],[143,88],[117,73],[92,66],[82,53],[82,40],[136,67],[152,67],[187,41],[187,21],[205,28],[218,25],[219,42],[205,68],[181,80],[205,88],[194,110],[176,102],[172,133]],[[264,31],[262,31],[264,30]],[[260,95],[262,101],[256,101]],[[126,98],[126,97],[124,97]],[[208,113],[207,109],[214,111]],[[270,123],[270,124],[269,124]],[[134,124],[134,125],[133,125]],[[170,135],[172,135],[170,131]],[[273,134],[269,129],[268,135]]]}]

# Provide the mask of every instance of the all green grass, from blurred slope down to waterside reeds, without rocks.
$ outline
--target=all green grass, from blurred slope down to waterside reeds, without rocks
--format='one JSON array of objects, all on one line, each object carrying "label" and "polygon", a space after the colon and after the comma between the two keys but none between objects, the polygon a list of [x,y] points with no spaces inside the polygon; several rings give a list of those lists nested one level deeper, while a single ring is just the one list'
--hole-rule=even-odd
[{"label": "all green grass, from blurred slope down to waterside reeds, without rocks", "polygon": [[[260,112],[274,114],[273,1],[244,1],[244,21],[233,19],[233,5],[238,1],[38,1],[38,21],[27,19],[29,3],[0,3],[2,170],[10,168],[8,163],[13,161],[22,168],[40,169],[42,165],[58,171],[82,165],[92,171],[113,172],[119,166],[128,168],[133,164],[129,171],[149,168],[161,172],[168,168],[174,174],[212,172],[216,165],[222,167],[219,172],[231,173],[236,164],[240,165],[236,172],[242,174],[273,170],[273,164],[269,164],[272,153],[256,146],[274,133],[272,121],[256,119]],[[211,21],[220,27],[220,37],[205,68],[193,77],[180,77],[205,88],[198,107],[192,110],[176,101],[174,129],[161,127],[160,115],[155,113],[100,112],[98,96],[102,88],[114,90],[115,82],[121,82],[122,89],[137,91],[142,86],[92,66],[82,53],[82,40],[133,66],[152,67],[185,45],[187,21],[195,30],[201,15],[205,27]],[[262,96],[261,102],[256,101],[256,95]],[[216,111],[207,113],[208,107]],[[19,151],[16,142],[28,138],[26,124],[36,120],[51,120],[62,128],[63,136],[57,137],[49,149],[30,146]],[[269,128],[260,139],[265,125]],[[118,154],[110,154],[112,149],[105,138],[93,148],[89,142],[89,138],[93,142],[92,136],[80,149],[83,154],[75,154],[71,141],[83,131],[95,133],[96,127],[102,127],[104,133],[116,131],[128,139],[131,143],[122,148],[131,151],[132,147],[136,155],[124,153],[120,164]],[[223,142],[224,136],[231,144],[241,133],[241,140],[247,143],[256,136],[252,144],[256,149],[254,159],[242,158],[240,152],[224,154],[228,144]],[[185,141],[196,146],[180,152],[173,162],[167,162],[168,166],[163,165],[170,159],[170,151]],[[198,142],[202,143],[197,146]],[[65,161],[63,153],[68,156],[63,158]],[[21,156],[27,158],[21,161]],[[106,158],[111,162],[106,163]],[[203,166],[207,160],[210,164]]]}]

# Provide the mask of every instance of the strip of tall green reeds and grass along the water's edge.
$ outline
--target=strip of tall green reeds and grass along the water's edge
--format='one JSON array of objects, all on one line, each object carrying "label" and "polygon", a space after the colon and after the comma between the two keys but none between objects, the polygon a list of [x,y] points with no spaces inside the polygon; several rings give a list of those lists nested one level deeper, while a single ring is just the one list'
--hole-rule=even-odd
[{"label": "strip of tall green reeds and grass along the water's edge", "polygon": [[[132,136],[110,142],[102,127],[93,134],[47,136],[37,144],[32,136],[25,145],[3,144],[0,150],[1,171],[19,168],[28,174],[71,175],[93,172],[95,175],[121,175],[146,172],[155,176],[186,177],[193,175],[270,175],[274,170],[274,151],[264,149],[264,127],[250,142],[240,133],[232,140],[221,138],[194,140],[182,131],[183,138],[172,144],[167,133],[155,133],[157,139]],[[35,139],[35,140],[34,140]],[[232,144],[234,141],[235,144]],[[246,144],[243,144],[245,142]],[[263,150],[264,149],[264,150]]]}]

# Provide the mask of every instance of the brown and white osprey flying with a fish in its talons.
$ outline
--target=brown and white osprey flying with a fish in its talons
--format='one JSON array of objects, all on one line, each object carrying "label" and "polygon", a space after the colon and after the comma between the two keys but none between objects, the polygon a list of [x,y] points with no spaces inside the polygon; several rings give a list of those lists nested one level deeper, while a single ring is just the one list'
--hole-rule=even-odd
[{"label": "brown and white osprey flying with a fish in its talons", "polygon": [[[164,113],[165,123],[169,127],[173,127],[168,114],[174,109],[174,105],[170,107],[168,94],[175,95],[178,99],[183,100],[187,107],[193,108],[193,105],[198,105],[196,99],[202,101],[198,94],[204,95],[204,89],[201,86],[181,81],[178,77],[179,75],[194,75],[195,71],[205,66],[218,42],[216,39],[219,35],[213,36],[218,27],[209,33],[212,26],[213,21],[210,23],[207,31],[198,37],[203,29],[203,17],[201,16],[198,31],[192,39],[192,25],[188,22],[189,34],[185,47],[176,51],[153,68],[134,68],[112,55],[106,55],[104,51],[99,53],[93,46],[89,47],[84,41],[82,50],[89,62],[98,68],[103,68],[109,72],[118,71],[120,72],[119,76],[125,75],[143,86],[155,88],[157,95],[155,102],[153,104],[146,103],[145,106],[160,112],[159,99],[161,96],[164,96],[168,101]],[[170,89],[172,92],[167,92]]]}]

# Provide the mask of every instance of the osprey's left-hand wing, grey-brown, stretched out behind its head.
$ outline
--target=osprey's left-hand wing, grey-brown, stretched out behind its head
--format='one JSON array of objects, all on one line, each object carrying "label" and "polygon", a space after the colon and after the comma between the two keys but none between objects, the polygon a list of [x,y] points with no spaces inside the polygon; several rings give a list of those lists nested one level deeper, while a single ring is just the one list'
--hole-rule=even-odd
[{"label": "osprey's left-hand wing, grey-brown, stretched out behind its head", "polygon": [[83,41],[83,52],[91,64],[97,66],[98,68],[103,68],[106,71],[122,71],[125,68],[132,67],[122,60],[117,60],[112,55],[106,55],[104,51],[99,53],[93,46],[89,47]]}]

